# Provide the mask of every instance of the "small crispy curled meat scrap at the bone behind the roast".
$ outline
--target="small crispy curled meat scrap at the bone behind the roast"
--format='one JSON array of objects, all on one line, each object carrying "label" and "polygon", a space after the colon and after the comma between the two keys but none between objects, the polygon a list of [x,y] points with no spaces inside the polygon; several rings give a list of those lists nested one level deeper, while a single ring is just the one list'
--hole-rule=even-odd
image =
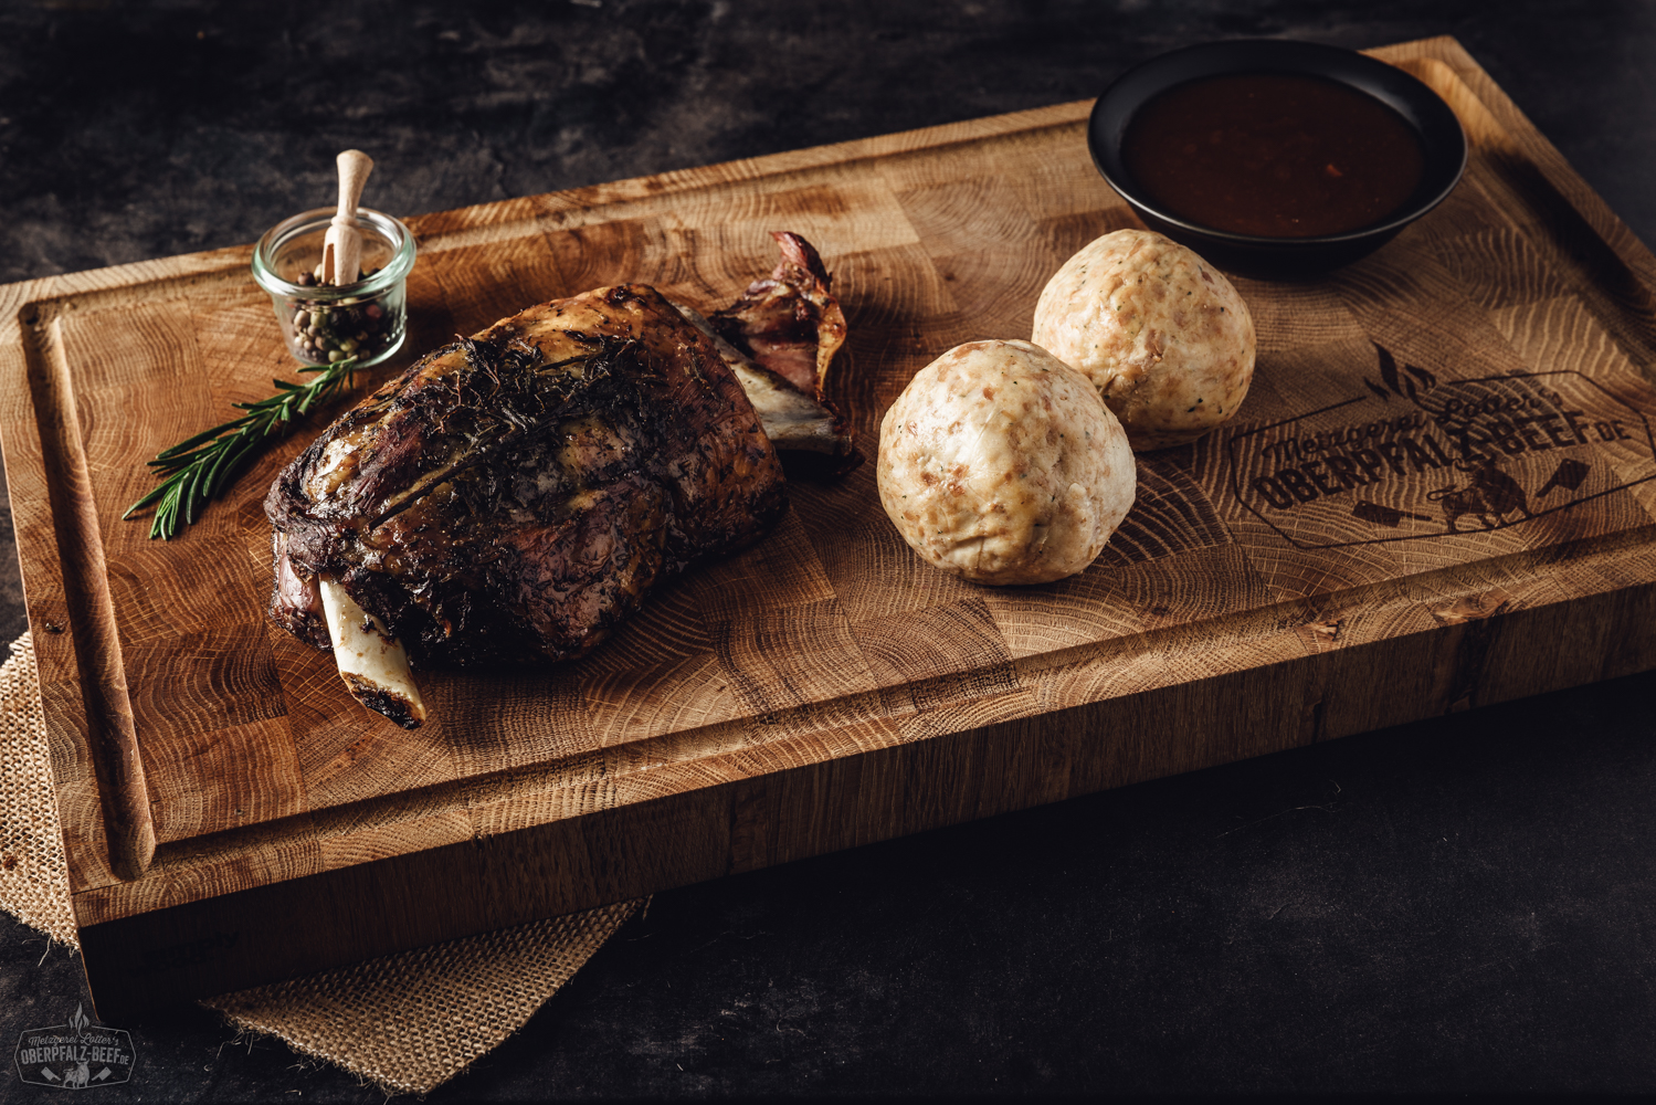
[{"label": "small crispy curled meat scrap at the bone behind the roast", "polygon": [[845,345],[845,311],[828,292],[831,277],[816,249],[788,230],[770,237],[782,247],[775,272],[709,321],[740,353],[821,401],[828,364]]}]

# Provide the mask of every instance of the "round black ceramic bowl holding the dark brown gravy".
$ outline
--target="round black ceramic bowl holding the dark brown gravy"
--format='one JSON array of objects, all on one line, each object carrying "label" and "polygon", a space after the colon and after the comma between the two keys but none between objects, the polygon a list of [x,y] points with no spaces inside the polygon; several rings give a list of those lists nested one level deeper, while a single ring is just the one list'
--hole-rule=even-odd
[{"label": "round black ceramic bowl holding the dark brown gravy", "polygon": [[[1121,141],[1134,113],[1177,84],[1244,73],[1318,76],[1373,96],[1396,111],[1419,136],[1424,152],[1424,172],[1414,194],[1381,222],[1346,234],[1303,239],[1216,230],[1159,209],[1121,157]],[[1086,142],[1098,171],[1148,227],[1191,247],[1220,268],[1257,277],[1313,275],[1371,253],[1441,204],[1466,169],[1466,134],[1437,93],[1384,61],[1308,41],[1220,41],[1151,58],[1129,70],[1098,98]]]}]

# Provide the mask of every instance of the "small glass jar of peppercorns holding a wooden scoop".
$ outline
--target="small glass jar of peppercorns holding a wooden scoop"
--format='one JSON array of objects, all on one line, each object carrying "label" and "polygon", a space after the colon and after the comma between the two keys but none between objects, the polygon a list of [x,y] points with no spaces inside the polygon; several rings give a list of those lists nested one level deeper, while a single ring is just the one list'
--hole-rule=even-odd
[{"label": "small glass jar of peppercorns holding a wooden scoop", "polygon": [[253,247],[253,280],[270,293],[288,351],[301,363],[330,364],[354,356],[359,368],[379,364],[407,335],[414,235],[391,215],[358,207],[363,278],[333,287],[321,283],[321,247],[330,222],[333,207],[318,207],[267,230]]}]

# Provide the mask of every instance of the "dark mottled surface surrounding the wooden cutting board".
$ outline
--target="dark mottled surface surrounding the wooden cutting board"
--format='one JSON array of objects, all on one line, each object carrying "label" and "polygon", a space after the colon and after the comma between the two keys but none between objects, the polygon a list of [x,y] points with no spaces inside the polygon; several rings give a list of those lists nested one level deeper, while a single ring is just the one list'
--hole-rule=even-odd
[{"label": "dark mottled surface surrounding the wooden cutting board", "polygon": [[[1646,242],[1656,5],[0,3],[0,282],[1451,33]],[[8,520],[8,512],[0,514]],[[10,548],[10,527],[5,530]],[[0,635],[25,626],[3,552]],[[1537,648],[1547,648],[1538,641]],[[659,895],[432,1100],[1656,1088],[1656,676]],[[0,918],[0,1042],[78,961]],[[104,1100],[379,1102],[199,1009]],[[45,1090],[0,1072],[0,1102]]]}]

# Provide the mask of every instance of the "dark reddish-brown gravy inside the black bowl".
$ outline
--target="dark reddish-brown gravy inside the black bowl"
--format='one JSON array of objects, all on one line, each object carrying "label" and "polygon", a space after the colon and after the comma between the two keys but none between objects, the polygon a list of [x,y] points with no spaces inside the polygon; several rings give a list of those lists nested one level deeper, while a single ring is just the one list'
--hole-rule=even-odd
[{"label": "dark reddish-brown gravy inside the black bowl", "polygon": [[1285,73],[1169,88],[1133,116],[1121,156],[1167,214],[1272,239],[1376,224],[1413,195],[1426,164],[1421,139],[1386,104]]}]

